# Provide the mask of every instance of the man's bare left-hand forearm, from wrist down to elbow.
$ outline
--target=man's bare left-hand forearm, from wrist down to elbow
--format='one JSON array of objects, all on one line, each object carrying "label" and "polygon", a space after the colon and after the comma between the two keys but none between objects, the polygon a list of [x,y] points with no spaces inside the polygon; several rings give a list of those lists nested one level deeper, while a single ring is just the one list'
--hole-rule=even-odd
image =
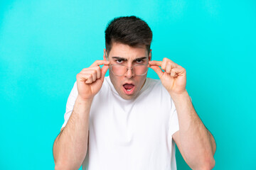
[{"label": "man's bare left-hand forearm, from wrist down to elbow", "polygon": [[92,100],[76,99],[73,113],[53,145],[55,169],[79,169],[85,159],[91,104]]}]

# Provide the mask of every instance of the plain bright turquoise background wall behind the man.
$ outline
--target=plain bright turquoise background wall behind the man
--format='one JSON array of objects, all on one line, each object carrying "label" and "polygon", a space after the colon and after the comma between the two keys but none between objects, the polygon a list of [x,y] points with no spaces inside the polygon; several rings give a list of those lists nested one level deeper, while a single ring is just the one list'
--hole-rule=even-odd
[{"label": "plain bright turquoise background wall behind the man", "polygon": [[[52,147],[104,30],[136,15],[154,60],[186,68],[187,90],[217,142],[214,169],[256,169],[256,1],[0,1],[0,169],[54,169]],[[149,77],[158,79],[150,70]],[[176,152],[178,169],[189,169]]]}]

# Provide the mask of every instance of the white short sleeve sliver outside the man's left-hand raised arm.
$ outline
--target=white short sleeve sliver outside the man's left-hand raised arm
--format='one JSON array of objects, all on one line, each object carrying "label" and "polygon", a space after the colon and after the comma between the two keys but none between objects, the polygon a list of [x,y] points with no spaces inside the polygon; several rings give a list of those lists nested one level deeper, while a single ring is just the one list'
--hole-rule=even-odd
[{"label": "white short sleeve sliver outside the man's left-hand raised arm", "polygon": [[64,128],[65,125],[68,123],[68,119],[70,118],[71,113],[73,112],[73,108],[75,105],[75,100],[78,97],[78,86],[77,82],[75,81],[75,84],[73,86],[73,89],[70,92],[70,95],[68,96],[68,101],[66,105],[65,115],[64,115],[64,123],[61,128]]}]

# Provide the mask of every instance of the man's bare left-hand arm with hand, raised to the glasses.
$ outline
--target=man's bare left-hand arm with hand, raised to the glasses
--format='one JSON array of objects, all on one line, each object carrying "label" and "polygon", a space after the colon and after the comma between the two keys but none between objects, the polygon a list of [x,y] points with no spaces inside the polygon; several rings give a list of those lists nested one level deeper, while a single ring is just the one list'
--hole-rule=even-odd
[{"label": "man's bare left-hand arm with hand, raised to the glasses", "polygon": [[[102,69],[100,65],[105,64]],[[77,74],[78,97],[67,125],[53,144],[55,169],[79,169],[87,152],[90,107],[110,62],[97,60]]]}]

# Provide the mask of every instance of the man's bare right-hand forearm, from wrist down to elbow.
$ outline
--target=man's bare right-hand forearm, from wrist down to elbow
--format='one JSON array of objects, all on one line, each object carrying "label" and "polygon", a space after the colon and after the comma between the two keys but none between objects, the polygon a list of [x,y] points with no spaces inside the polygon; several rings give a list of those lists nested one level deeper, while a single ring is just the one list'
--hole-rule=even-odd
[{"label": "man's bare right-hand forearm, from wrist down to elbow", "polygon": [[193,169],[214,166],[215,141],[198,117],[188,93],[172,94],[171,97],[178,114],[181,148],[186,162]]}]

